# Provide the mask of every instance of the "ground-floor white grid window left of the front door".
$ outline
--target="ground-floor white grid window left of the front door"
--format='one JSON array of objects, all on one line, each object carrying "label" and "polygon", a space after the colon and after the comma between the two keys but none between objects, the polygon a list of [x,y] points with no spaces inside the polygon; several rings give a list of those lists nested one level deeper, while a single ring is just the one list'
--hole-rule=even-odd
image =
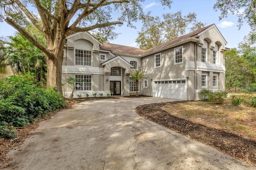
[{"label": "ground-floor white grid window left of the front door", "polygon": [[92,90],[91,75],[75,75],[76,90]]}]

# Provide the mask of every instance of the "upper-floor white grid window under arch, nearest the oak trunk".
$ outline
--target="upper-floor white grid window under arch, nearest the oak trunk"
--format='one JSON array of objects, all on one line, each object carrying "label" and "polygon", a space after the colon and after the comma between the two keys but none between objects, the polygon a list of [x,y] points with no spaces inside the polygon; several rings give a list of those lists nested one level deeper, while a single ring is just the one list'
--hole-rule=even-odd
[{"label": "upper-floor white grid window under arch, nearest the oak trunk", "polygon": [[88,50],[75,50],[76,65],[91,66],[92,64],[92,51]]}]

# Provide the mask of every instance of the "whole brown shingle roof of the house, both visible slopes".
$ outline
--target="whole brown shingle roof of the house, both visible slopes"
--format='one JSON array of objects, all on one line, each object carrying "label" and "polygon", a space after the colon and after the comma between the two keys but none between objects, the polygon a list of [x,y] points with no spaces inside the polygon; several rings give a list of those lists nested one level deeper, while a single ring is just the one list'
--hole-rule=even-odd
[{"label": "whole brown shingle roof of the house, both visible slopes", "polygon": [[128,47],[128,46],[124,46],[124,45],[117,45],[117,44],[111,44],[111,43],[103,43],[100,46],[100,49],[112,51],[113,53],[118,53],[118,54],[143,55],[143,54],[146,54],[146,53],[157,51],[157,50],[162,49],[164,47],[168,47],[170,45],[173,45],[175,43],[178,43],[178,42],[183,41],[185,39],[188,39],[190,37],[197,37],[199,33],[208,29],[212,25],[214,25],[214,24],[208,25],[206,27],[203,27],[201,29],[198,29],[196,31],[193,31],[191,33],[188,33],[188,34],[183,35],[181,37],[178,37],[176,39],[173,39],[172,41],[168,41],[166,43],[163,43],[161,45],[158,45],[156,47],[148,49],[146,51],[142,50],[142,49],[139,49],[139,48],[135,48],[135,47]]}]

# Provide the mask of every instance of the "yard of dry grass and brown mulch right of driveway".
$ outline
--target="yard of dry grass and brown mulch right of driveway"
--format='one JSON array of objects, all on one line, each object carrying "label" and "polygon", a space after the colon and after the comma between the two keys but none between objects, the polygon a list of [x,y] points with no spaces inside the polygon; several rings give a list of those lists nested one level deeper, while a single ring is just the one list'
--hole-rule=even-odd
[{"label": "yard of dry grass and brown mulch right of driveway", "polygon": [[248,104],[253,94],[235,95],[245,99],[240,106],[234,106],[231,98],[226,98],[223,104],[206,101],[148,104],[136,107],[136,112],[256,166],[256,110]]}]

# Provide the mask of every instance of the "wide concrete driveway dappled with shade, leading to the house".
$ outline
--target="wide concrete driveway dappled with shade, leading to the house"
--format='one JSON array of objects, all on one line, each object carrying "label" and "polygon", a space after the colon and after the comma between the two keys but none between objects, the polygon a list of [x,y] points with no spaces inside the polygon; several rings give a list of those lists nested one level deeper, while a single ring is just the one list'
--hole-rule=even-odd
[{"label": "wide concrete driveway dappled with shade, leading to the house", "polygon": [[12,149],[6,169],[23,170],[255,170],[148,121],[136,106],[164,98],[93,100],[40,123],[24,144]]}]

